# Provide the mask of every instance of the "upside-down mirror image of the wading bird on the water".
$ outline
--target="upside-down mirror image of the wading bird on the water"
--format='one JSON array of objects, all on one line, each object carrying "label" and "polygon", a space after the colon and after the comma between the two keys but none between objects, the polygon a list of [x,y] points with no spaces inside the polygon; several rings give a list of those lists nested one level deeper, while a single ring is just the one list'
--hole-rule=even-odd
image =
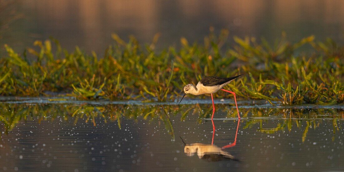
[{"label": "upside-down mirror image of the wading bird on the water", "polygon": [[197,154],[198,158],[204,159],[206,161],[221,161],[221,160],[238,161],[236,158],[234,158],[233,155],[224,151],[224,149],[234,147],[236,145],[240,119],[238,120],[234,142],[231,144],[227,144],[226,146],[223,146],[221,148],[214,145],[215,125],[214,125],[213,120],[212,120],[212,123],[213,123],[213,129],[214,129],[212,144],[202,144],[202,143],[186,144],[184,140],[182,139],[182,137],[180,137],[183,143],[185,144],[184,153],[189,157],[192,157],[193,155]]}]

